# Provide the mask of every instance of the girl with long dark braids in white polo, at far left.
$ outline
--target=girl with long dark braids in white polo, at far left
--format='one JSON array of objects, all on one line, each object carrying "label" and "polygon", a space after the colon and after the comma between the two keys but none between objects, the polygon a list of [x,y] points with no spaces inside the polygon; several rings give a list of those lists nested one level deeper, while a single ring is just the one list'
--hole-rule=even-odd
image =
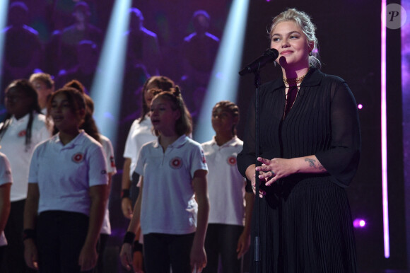
[{"label": "girl with long dark braids in white polo, at far left", "polygon": [[13,170],[10,192],[11,209],[4,234],[8,240],[6,260],[8,272],[33,272],[24,262],[23,211],[28,188],[28,169],[35,146],[51,133],[45,115],[41,114],[37,92],[26,79],[12,81],[4,99],[7,114],[0,123],[0,146]]}]

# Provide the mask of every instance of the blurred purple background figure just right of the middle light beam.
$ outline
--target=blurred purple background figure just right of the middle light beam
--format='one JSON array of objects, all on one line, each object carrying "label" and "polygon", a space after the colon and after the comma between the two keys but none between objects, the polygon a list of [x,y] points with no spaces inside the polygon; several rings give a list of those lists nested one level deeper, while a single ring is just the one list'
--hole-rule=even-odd
[{"label": "blurred purple background figure just right of the middle light beam", "polygon": [[138,8],[129,9],[127,68],[143,64],[150,76],[158,75],[160,47],[156,33],[144,28],[144,16]]}]

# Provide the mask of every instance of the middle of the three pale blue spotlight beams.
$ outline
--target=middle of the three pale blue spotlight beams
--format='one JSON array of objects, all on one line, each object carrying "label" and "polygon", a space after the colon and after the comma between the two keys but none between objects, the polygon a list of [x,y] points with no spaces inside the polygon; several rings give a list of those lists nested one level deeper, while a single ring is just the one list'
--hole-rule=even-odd
[{"label": "middle of the three pale blue spotlight beams", "polygon": [[114,146],[127,50],[127,36],[124,33],[129,25],[129,8],[131,8],[131,0],[115,1],[98,62],[100,73],[95,74],[90,91],[95,101],[94,118],[98,128]]}]

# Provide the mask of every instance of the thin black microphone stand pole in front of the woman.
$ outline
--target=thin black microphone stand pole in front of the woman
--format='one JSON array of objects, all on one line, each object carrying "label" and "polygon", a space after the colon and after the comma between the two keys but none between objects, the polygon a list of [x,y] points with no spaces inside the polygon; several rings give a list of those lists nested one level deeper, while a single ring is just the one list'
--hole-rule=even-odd
[{"label": "thin black microphone stand pole in front of the woman", "polygon": [[[259,156],[259,86],[261,85],[260,82],[260,76],[259,76],[259,68],[254,71],[254,86],[256,88],[256,134],[255,134],[255,139],[256,139],[256,156]],[[255,167],[258,165],[258,161],[256,160]],[[260,249],[260,238],[259,238],[259,171],[255,170],[255,210],[256,210],[256,235],[254,238],[254,262],[256,265],[256,272],[259,273],[260,271],[260,255],[259,255],[259,249]]]}]

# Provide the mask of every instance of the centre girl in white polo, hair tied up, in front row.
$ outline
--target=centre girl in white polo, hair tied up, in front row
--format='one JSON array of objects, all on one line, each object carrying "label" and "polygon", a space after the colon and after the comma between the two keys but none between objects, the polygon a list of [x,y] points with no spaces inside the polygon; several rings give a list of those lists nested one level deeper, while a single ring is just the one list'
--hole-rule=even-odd
[{"label": "centre girl in white polo, hair tied up, in front row", "polygon": [[206,265],[209,214],[207,166],[201,145],[189,139],[192,120],[179,88],[151,103],[158,139],[145,144],[136,163],[140,194],[120,253],[131,269],[131,243],[141,222],[146,272],[192,272]]}]

